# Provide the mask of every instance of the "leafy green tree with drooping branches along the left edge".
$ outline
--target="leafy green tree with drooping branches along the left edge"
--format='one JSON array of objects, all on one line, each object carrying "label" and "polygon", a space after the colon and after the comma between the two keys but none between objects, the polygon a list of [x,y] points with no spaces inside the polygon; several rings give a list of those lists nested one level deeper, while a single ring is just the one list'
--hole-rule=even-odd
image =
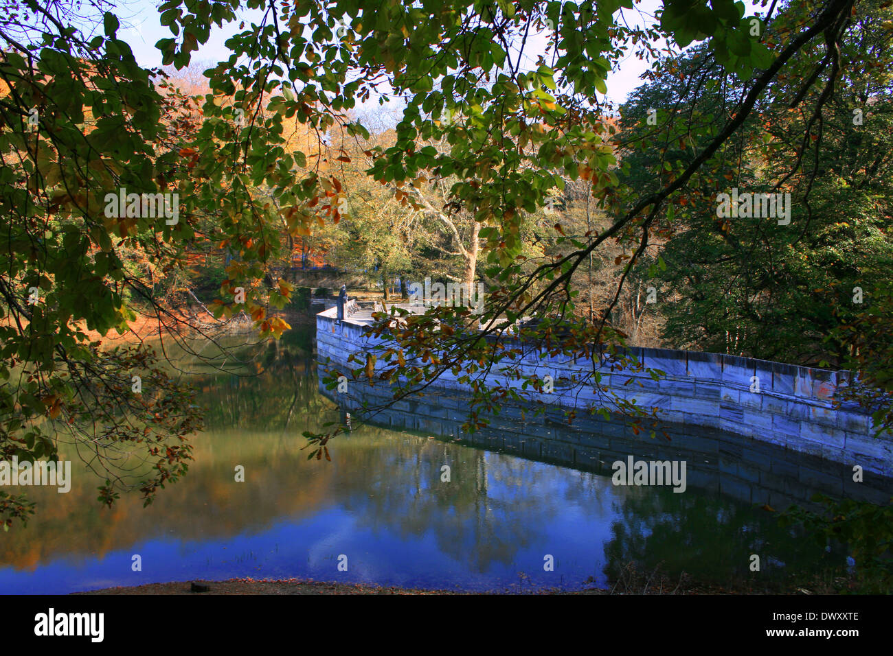
[{"label": "leafy green tree with drooping branches along the left edge", "polygon": [[[103,502],[121,486],[151,502],[188,469],[201,414],[151,350],[101,337],[135,318],[140,260],[176,266],[192,236],[171,220],[192,128],[161,120],[182,116],[185,100],[138,67],[109,12],[25,1],[4,16],[0,457],[55,461],[67,439],[105,479]],[[104,35],[84,36],[79,19],[102,21]],[[139,211],[110,209],[110,193],[132,194]],[[4,528],[30,511],[24,495],[0,492]]]}]

